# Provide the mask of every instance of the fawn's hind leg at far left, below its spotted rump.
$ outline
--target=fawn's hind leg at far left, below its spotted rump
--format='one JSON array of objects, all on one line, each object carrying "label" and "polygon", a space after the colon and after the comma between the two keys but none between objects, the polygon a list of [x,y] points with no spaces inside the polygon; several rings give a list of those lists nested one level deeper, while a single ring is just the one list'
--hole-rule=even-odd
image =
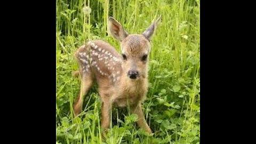
[{"label": "fawn's hind leg at far left, below its spotted rump", "polygon": [[92,84],[93,84],[92,73],[83,73],[83,72],[81,72],[80,93],[79,93],[77,101],[74,105],[75,116],[77,116],[78,114],[81,113],[82,106],[83,106],[84,95],[87,94],[89,89],[92,87]]}]

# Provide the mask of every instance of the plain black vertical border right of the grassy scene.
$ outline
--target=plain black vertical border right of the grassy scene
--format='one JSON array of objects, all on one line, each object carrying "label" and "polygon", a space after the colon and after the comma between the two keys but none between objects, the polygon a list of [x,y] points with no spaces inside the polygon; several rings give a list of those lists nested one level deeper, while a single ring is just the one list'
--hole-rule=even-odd
[{"label": "plain black vertical border right of the grassy scene", "polygon": [[200,143],[251,143],[253,138],[251,6],[201,1]]}]

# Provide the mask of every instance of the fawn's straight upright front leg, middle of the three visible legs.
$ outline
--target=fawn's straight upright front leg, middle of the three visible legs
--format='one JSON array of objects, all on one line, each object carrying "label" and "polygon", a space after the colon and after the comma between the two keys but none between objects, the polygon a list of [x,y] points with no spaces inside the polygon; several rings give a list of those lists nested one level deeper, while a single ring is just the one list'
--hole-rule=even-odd
[{"label": "fawn's straight upright front leg, middle of the three visible legs", "polygon": [[111,111],[111,102],[110,100],[104,100],[101,108],[101,127],[103,129],[102,137],[106,138],[106,130],[110,125],[110,111]]}]

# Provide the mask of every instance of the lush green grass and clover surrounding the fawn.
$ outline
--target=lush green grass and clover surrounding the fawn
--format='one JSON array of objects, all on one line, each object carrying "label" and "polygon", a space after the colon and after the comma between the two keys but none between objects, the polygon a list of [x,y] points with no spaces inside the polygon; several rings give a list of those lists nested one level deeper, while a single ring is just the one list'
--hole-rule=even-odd
[{"label": "lush green grass and clover surrounding the fawn", "polygon": [[[91,13],[83,12],[84,3]],[[199,143],[200,21],[199,0],[56,1],[56,143]],[[126,108],[114,108],[111,129],[101,140],[101,102],[97,87],[85,96],[80,117],[73,116],[79,93],[74,51],[88,40],[103,39],[113,16],[132,33],[142,33],[162,15],[151,40],[149,91],[143,112],[153,135],[139,129]]]}]

